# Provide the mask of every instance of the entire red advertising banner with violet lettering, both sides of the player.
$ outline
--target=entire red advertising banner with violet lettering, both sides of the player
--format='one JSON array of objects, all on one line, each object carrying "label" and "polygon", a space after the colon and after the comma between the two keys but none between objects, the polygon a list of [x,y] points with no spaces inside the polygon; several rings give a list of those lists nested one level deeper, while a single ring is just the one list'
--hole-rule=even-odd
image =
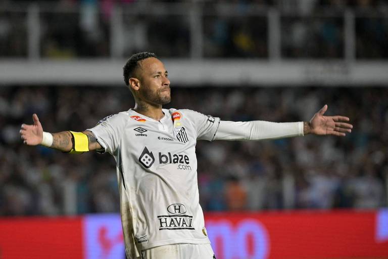
[{"label": "entire red advertising banner with violet lettering, both sides of the player", "polygon": [[[388,209],[207,213],[218,259],[388,258]],[[0,218],[0,259],[125,258],[117,214]]]}]

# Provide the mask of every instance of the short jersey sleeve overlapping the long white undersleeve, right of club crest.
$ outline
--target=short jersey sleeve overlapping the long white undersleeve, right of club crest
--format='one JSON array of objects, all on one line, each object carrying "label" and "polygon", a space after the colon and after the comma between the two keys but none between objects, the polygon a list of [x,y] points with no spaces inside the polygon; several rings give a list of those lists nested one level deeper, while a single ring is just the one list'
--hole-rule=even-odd
[{"label": "short jersey sleeve overlapping the long white undersleeve, right of club crest", "polygon": [[211,115],[204,115],[192,110],[183,110],[183,112],[188,115],[189,119],[196,128],[198,140],[214,140],[220,123],[220,118],[213,117]]}]

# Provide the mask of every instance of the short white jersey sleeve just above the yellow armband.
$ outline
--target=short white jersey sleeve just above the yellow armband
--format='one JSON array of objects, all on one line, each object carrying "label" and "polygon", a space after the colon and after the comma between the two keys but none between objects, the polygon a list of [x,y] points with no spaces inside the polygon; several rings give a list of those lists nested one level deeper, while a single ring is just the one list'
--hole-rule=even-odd
[{"label": "short white jersey sleeve just above the yellow armband", "polygon": [[103,152],[108,151],[113,154],[119,146],[120,139],[127,122],[127,115],[117,113],[109,115],[100,120],[94,127],[88,128],[94,134],[97,142],[104,148]]}]

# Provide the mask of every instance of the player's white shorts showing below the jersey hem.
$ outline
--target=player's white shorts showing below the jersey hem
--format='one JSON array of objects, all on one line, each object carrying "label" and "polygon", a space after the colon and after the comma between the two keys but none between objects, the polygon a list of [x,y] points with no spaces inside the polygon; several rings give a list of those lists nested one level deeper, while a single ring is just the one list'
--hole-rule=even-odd
[{"label": "player's white shorts showing below the jersey hem", "polygon": [[215,259],[210,244],[171,244],[141,251],[141,259]]}]

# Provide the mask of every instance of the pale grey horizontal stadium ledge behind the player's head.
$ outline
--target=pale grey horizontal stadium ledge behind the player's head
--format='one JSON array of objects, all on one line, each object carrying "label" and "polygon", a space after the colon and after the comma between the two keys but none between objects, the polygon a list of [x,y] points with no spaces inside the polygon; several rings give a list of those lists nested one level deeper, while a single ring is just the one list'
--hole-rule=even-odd
[{"label": "pale grey horizontal stadium ledge behind the player's head", "polygon": [[[175,86],[388,86],[388,62],[162,59]],[[0,60],[3,84],[121,85],[125,60]]]}]

